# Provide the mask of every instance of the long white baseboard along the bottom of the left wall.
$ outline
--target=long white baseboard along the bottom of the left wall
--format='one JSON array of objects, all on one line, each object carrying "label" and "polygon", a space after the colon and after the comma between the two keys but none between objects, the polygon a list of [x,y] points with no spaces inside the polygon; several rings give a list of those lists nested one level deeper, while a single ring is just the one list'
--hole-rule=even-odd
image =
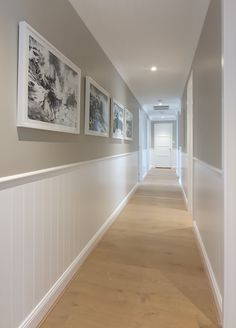
[{"label": "long white baseboard along the bottom of the left wall", "polygon": [[125,205],[128,203],[129,199],[135,193],[138,183],[132,188],[128,195],[122,200],[122,202],[117,206],[114,212],[106,220],[106,222],[101,226],[101,228],[96,232],[92,239],[87,243],[84,249],[76,257],[76,259],[71,263],[71,265],[66,269],[66,271],[61,275],[57,282],[52,286],[52,288],[47,292],[40,303],[33,309],[33,311],[28,315],[28,317],[23,321],[23,323],[18,328],[35,328],[48,313],[50,308],[56,302],[57,298],[66,288],[70,280],[73,278],[74,274],[80,266],[83,264],[85,259],[109,229],[111,224],[116,220],[120,212],[123,210]]}]

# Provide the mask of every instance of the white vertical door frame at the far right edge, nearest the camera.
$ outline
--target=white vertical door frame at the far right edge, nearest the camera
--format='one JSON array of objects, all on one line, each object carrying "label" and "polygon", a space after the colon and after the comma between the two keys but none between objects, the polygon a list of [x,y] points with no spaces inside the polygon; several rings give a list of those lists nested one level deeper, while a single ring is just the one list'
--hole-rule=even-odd
[{"label": "white vertical door frame at the far right edge, nearest the camera", "polygon": [[224,174],[224,296],[223,327],[236,322],[236,1],[222,1],[223,39],[223,174]]}]

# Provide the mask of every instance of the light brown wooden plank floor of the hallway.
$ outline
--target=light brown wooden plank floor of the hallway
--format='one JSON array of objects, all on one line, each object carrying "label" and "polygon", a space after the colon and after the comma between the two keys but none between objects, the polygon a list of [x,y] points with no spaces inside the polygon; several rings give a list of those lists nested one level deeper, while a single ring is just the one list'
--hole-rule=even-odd
[{"label": "light brown wooden plank floor of the hallway", "polygon": [[218,327],[173,171],[151,170],[41,327]]}]

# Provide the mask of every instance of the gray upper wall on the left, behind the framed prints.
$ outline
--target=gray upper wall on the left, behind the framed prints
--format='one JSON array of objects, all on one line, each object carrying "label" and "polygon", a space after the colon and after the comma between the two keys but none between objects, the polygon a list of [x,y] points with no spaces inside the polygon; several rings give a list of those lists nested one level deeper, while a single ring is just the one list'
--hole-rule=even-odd
[{"label": "gray upper wall on the left, behind the framed prints", "polygon": [[[25,20],[82,70],[81,134],[16,128],[18,22]],[[138,101],[67,0],[0,2],[0,176],[138,149]],[[134,113],[133,142],[84,136],[84,83],[90,75]]]}]

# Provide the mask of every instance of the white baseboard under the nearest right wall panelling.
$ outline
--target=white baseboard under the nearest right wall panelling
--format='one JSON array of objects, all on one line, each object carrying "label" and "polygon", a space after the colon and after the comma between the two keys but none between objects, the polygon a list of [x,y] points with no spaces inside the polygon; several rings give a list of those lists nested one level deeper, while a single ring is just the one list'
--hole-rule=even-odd
[{"label": "white baseboard under the nearest right wall panelling", "polygon": [[219,323],[220,323],[220,325],[222,325],[222,319],[223,319],[222,295],[221,295],[218,283],[216,281],[215,274],[214,274],[214,271],[212,269],[211,262],[208,258],[206,248],[204,246],[204,243],[203,243],[200,231],[198,229],[198,226],[196,224],[196,221],[193,221],[193,231],[194,231],[195,238],[197,240],[198,248],[200,249],[200,252],[201,252],[204,267],[205,267],[205,270],[206,270],[207,275],[208,275],[208,279],[210,281],[211,289],[212,289],[212,292],[213,292],[213,296],[214,296],[217,311],[218,311],[218,317],[219,317],[219,321],[220,321]]}]

